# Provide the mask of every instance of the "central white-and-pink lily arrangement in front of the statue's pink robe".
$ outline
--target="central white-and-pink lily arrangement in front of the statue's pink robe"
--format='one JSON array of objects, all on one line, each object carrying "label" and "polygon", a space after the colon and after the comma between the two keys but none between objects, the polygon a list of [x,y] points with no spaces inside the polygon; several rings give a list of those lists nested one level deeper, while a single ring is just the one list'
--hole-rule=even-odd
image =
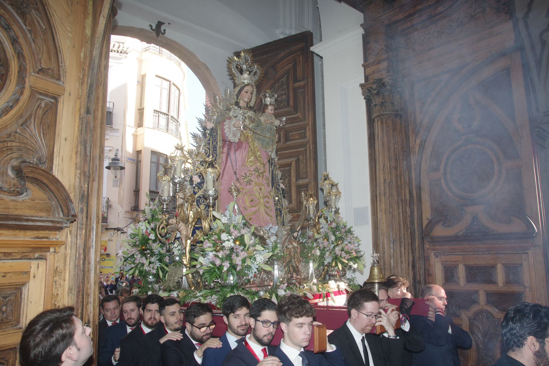
[{"label": "central white-and-pink lily arrangement in front of the statue's pink robe", "polygon": [[[278,242],[274,233],[276,227],[268,228],[271,236],[264,245],[254,234],[254,226],[248,228],[241,215],[233,213],[234,203],[224,214],[214,213],[216,220],[208,235],[195,237],[196,246],[187,273],[198,271],[208,286],[216,283],[230,287],[233,282],[248,284],[260,270],[272,271],[268,265]],[[201,243],[198,243],[201,241]]]}]

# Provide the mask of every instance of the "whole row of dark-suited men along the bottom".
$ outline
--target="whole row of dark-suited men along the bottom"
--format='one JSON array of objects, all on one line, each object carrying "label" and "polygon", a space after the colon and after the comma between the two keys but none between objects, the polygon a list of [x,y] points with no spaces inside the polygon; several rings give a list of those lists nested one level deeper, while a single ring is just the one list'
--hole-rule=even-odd
[{"label": "whole row of dark-suited men along the bottom", "polygon": [[[114,281],[121,284],[117,295],[130,291],[130,281],[124,274]],[[221,308],[227,331],[218,339],[212,336],[219,323],[210,304],[183,310],[176,298],[105,294],[96,358],[99,366],[460,366],[458,349],[470,349],[473,339],[447,315],[444,288],[430,284],[412,298],[407,287],[405,279],[390,276],[349,293],[348,320],[323,335],[326,348],[317,353],[305,349],[317,325],[316,310],[299,295],[251,304],[229,296]],[[418,304],[424,313],[412,312]],[[376,331],[378,326],[383,329]],[[278,329],[282,340],[273,346]],[[94,352],[90,334],[74,309],[47,310],[23,332],[21,365],[82,365]],[[549,366],[549,307],[512,306],[502,319],[501,336],[501,358],[483,364]]]}]

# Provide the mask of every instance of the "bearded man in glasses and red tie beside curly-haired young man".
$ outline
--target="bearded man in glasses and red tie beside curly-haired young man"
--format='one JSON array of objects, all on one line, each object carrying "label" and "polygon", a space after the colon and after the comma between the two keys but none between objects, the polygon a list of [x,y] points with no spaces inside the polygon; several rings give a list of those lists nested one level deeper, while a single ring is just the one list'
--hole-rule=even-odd
[{"label": "bearded man in glasses and red tie beside curly-haired young man", "polygon": [[250,327],[251,334],[227,354],[223,366],[281,366],[282,362],[273,356],[276,347],[271,346],[275,332],[280,328],[276,304],[268,298],[254,301],[250,307]]}]

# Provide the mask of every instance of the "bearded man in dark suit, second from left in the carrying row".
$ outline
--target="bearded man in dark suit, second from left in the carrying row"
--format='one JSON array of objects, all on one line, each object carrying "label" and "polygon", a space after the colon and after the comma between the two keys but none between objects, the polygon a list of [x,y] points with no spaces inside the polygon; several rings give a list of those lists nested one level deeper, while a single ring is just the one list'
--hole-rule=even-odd
[{"label": "bearded man in dark suit, second from left in the carrying row", "polygon": [[141,299],[138,296],[128,296],[122,300],[124,321],[110,326],[105,331],[105,338],[99,346],[99,366],[112,366],[118,363],[120,340],[139,324],[141,318],[140,307]]}]

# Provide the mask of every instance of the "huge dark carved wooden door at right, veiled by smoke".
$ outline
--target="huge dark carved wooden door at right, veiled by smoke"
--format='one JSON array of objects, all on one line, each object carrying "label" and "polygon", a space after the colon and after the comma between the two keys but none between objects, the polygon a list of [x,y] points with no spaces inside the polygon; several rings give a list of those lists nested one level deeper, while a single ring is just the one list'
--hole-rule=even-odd
[{"label": "huge dark carved wooden door at right, veiled by smoke", "polygon": [[509,307],[547,303],[534,131],[509,11],[380,0],[363,25],[374,245],[416,295],[427,283],[446,289],[448,314],[473,337],[460,355],[468,366],[500,356]]}]

